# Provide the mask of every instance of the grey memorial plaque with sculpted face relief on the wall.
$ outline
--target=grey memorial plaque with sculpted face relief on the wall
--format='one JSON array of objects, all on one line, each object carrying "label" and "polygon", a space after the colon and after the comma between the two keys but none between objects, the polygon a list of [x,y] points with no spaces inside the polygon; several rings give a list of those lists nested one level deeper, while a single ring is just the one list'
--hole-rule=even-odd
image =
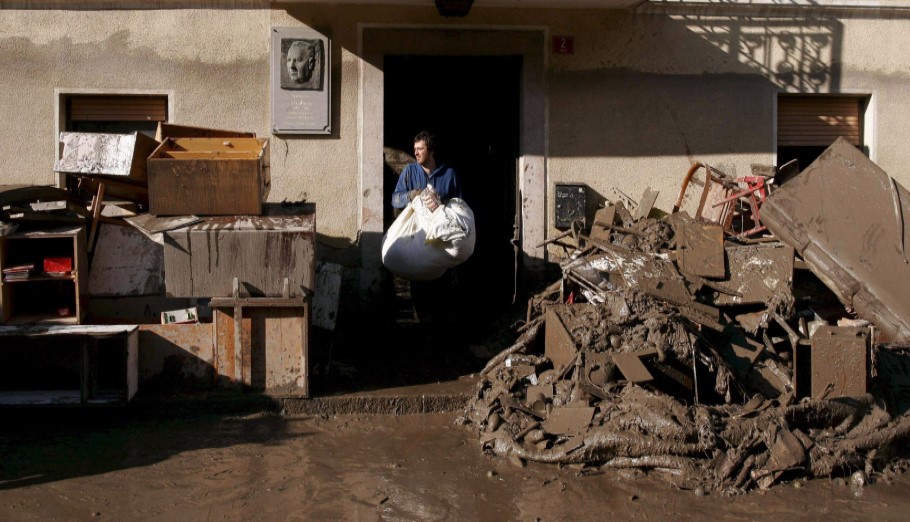
[{"label": "grey memorial plaque with sculpted face relief on the wall", "polygon": [[272,133],[332,132],[330,44],[306,27],[272,28]]}]

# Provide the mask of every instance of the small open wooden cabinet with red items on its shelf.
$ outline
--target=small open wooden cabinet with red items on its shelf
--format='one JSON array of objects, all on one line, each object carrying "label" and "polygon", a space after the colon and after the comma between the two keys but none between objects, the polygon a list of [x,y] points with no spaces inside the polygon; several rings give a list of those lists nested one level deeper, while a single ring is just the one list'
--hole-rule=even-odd
[{"label": "small open wooden cabinet with red items on its shelf", "polygon": [[[68,259],[67,273],[45,272],[45,260]],[[85,229],[66,227],[0,237],[0,269],[33,265],[25,277],[0,277],[0,323],[80,324],[88,291]]]}]

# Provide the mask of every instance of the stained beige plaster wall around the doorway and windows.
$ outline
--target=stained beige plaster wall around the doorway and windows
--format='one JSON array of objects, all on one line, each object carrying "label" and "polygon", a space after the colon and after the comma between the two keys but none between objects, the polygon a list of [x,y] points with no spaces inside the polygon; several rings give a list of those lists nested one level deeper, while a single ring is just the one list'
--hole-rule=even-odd
[{"label": "stained beige plaster wall around the doorway and windows", "polygon": [[[54,182],[55,89],[167,92],[177,123],[269,136],[268,29],[306,25],[332,37],[333,132],[271,136],[270,199],[316,202],[322,245],[357,264],[358,249],[344,247],[358,241],[369,189],[359,92],[368,24],[574,36],[574,55],[541,49],[547,123],[535,132],[546,143],[548,193],[581,182],[604,198],[618,190],[637,200],[650,186],[668,210],[693,161],[733,175],[774,162],[782,90],[871,94],[873,158],[910,186],[910,31],[899,12],[810,11],[807,21],[769,10],[743,18],[475,8],[447,19],[431,7],[272,7],[0,11],[0,184]],[[548,197],[536,215],[545,228],[552,206]]]}]

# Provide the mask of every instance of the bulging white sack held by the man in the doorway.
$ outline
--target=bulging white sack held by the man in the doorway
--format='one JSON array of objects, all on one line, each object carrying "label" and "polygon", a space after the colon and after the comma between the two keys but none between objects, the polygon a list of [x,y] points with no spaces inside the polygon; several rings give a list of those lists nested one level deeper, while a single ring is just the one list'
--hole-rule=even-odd
[{"label": "bulging white sack held by the man in the doorway", "polygon": [[474,212],[459,198],[435,212],[416,197],[382,238],[382,264],[410,281],[442,277],[474,253]]}]

